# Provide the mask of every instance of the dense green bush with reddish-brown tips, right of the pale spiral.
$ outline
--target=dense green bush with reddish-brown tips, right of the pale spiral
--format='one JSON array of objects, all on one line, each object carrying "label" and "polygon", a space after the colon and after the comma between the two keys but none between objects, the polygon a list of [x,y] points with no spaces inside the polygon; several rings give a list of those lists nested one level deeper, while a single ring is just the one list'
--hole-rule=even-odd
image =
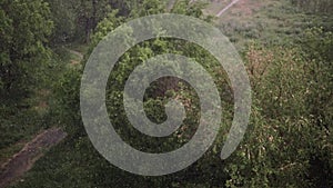
[{"label": "dense green bush with reddish-brown tips, right of the pale spiral", "polygon": [[[307,55],[294,47],[249,49],[246,59],[254,93],[252,122],[243,145],[228,159],[228,186],[332,186],[332,120],[326,125],[329,129],[317,125],[323,119],[314,116],[312,108],[320,103],[307,101],[314,93],[325,93],[309,86],[314,81],[313,73],[325,76],[310,71],[317,66]],[[331,80],[316,83],[326,87]],[[331,113],[330,109],[325,112]]]}]

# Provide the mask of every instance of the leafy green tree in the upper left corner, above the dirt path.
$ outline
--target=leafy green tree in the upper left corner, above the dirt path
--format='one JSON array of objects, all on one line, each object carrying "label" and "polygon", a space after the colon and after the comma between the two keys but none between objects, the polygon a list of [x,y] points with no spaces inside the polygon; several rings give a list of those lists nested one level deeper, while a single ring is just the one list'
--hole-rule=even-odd
[{"label": "leafy green tree in the upper left corner, above the dirt path", "polygon": [[0,2],[0,92],[3,99],[27,96],[41,63],[48,62],[46,47],[53,23],[43,0]]}]

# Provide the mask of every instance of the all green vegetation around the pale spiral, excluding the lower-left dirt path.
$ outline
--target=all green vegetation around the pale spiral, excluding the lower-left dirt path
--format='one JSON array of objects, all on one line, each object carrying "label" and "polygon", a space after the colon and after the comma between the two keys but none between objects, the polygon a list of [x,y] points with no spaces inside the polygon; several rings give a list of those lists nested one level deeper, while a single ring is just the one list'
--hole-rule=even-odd
[{"label": "all green vegetation around the pale spiral, excluding the lower-left dirt path", "polygon": [[[333,187],[332,2],[244,0],[222,18],[208,14],[216,11],[212,6],[189,2],[178,0],[170,10],[162,0],[0,2],[0,162],[42,129],[58,126],[69,133],[11,187]],[[162,122],[168,99],[181,100],[186,106],[181,129],[158,139],[130,125],[123,86],[151,57],[168,52],[195,59],[213,76],[223,105],[216,141],[200,160],[176,174],[142,177],[112,166],[91,145],[81,121],[80,81],[89,55],[110,31],[165,11],[210,21],[236,46],[252,85],[252,115],[244,140],[221,160],[233,116],[225,72],[190,42],[160,38],[137,44],[119,60],[107,88],[110,120],[128,144],[143,151],[170,151],[188,142],[198,126],[198,96],[172,78],[151,85],[144,110]]]}]

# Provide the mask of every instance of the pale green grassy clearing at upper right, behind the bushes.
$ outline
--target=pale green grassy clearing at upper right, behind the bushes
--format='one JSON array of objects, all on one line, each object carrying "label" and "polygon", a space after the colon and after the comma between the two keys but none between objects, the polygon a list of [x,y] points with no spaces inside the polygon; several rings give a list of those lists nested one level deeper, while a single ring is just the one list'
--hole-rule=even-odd
[{"label": "pale green grassy clearing at upper right, behind the bushes", "polygon": [[[231,8],[230,11],[215,20],[216,26],[240,51],[246,49],[246,46],[253,41],[264,46],[284,46],[296,41],[307,28],[332,29],[333,27],[333,18],[329,14],[305,13],[292,6],[289,0],[244,0],[244,2],[246,1],[248,4],[234,7],[243,11],[249,11],[250,7],[251,11],[246,14],[233,12],[233,8]],[[210,11],[215,10],[211,9]]]}]

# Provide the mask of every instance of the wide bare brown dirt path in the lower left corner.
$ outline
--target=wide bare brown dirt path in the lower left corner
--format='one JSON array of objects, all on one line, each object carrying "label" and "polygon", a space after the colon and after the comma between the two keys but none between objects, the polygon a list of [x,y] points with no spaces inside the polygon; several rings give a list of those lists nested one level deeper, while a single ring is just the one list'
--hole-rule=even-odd
[{"label": "wide bare brown dirt path in the lower left corner", "polygon": [[46,149],[59,144],[65,136],[67,133],[61,129],[51,128],[28,142],[20,152],[1,167],[0,188],[8,186],[31,169],[33,164],[43,156]]}]

